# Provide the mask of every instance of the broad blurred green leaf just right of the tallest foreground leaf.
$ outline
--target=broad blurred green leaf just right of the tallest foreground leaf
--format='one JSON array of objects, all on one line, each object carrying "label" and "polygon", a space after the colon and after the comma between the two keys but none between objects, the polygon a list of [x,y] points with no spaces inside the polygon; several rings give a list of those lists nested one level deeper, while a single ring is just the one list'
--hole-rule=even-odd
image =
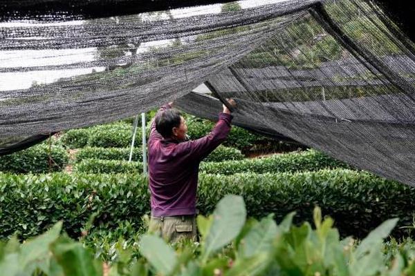
[{"label": "broad blurred green leaf just right of the tallest foreground leaf", "polygon": [[242,239],[239,253],[243,257],[252,257],[259,253],[266,253],[273,248],[273,240],[278,233],[275,221],[267,217],[252,227],[250,232]]}]

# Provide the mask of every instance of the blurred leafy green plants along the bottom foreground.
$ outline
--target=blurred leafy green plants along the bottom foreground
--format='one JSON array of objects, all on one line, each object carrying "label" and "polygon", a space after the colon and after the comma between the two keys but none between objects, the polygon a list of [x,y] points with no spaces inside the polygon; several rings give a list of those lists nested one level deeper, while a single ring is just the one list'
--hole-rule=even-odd
[{"label": "blurred leafy green plants along the bottom foreground", "polygon": [[[106,275],[415,275],[414,252],[402,248],[387,266],[383,239],[396,225],[390,219],[357,246],[340,240],[333,220],[314,210],[315,229],[293,226],[294,213],[275,224],[268,216],[248,219],[242,197],[227,195],[210,217],[199,216],[200,244],[169,245],[156,234],[143,235],[140,255],[131,259],[119,248],[118,261]],[[62,224],[22,245],[16,239],[0,246],[2,275],[103,275],[102,264],[77,242],[59,236]],[[410,249],[412,250],[412,249]]]}]

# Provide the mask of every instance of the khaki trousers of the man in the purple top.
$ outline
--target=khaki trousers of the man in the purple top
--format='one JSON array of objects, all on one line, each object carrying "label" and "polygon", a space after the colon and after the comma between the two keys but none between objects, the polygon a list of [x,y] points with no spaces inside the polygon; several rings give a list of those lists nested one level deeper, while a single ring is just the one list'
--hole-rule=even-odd
[{"label": "khaki trousers of the man in the purple top", "polygon": [[178,242],[181,239],[190,239],[196,242],[196,217],[179,215],[174,217],[151,216],[149,232],[160,233],[167,242]]}]

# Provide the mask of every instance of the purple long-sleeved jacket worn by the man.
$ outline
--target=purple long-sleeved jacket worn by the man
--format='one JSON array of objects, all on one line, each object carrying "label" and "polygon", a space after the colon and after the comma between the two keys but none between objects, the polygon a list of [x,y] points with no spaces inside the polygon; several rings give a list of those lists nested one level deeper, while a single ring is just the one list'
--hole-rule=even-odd
[{"label": "purple long-sleeved jacket worn by the man", "polygon": [[[160,108],[163,111],[169,105]],[[164,139],[151,123],[149,148],[149,188],[151,215],[167,217],[196,214],[199,164],[228,137],[232,116],[220,113],[209,135],[179,143]]]}]

